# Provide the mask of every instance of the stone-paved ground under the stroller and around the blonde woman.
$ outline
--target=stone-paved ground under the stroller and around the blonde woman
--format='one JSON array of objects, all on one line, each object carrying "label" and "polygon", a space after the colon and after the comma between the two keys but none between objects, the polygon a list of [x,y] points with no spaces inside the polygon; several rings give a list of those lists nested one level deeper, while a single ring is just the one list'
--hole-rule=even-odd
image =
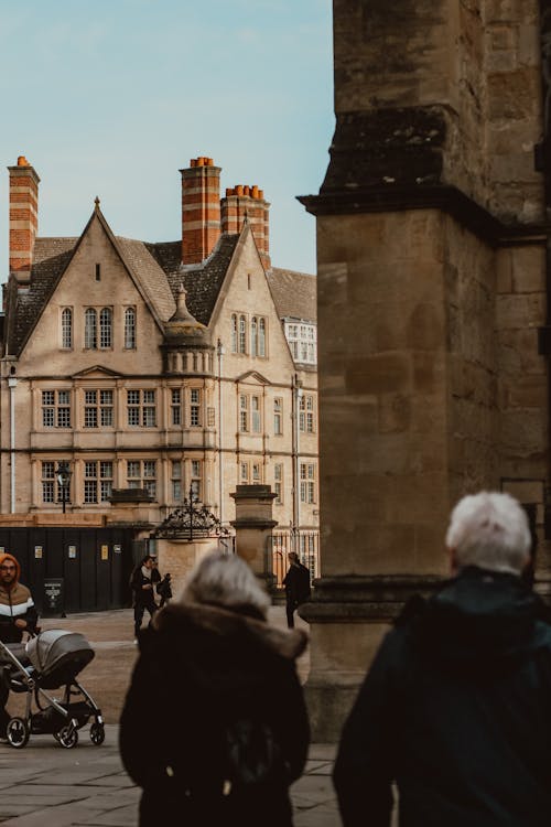
[{"label": "stone-paved ground under the stroller and around the blonde woman", "polygon": [[[284,608],[273,606],[270,621],[284,626]],[[307,627],[300,619],[298,625]],[[21,750],[0,743],[0,823],[2,827],[137,825],[141,791],[125,773],[117,745],[117,721],[137,656],[131,610],[50,619],[42,627],[82,632],[96,649],[80,681],[106,712],[106,740],[95,747],[85,727],[71,750],[60,747],[52,735],[31,735]],[[306,653],[299,663],[303,681],[307,670]],[[10,698],[10,711],[17,712],[21,702],[22,696]],[[295,827],[341,825],[331,783],[335,749],[334,744],[311,745],[305,772],[291,787]]]}]

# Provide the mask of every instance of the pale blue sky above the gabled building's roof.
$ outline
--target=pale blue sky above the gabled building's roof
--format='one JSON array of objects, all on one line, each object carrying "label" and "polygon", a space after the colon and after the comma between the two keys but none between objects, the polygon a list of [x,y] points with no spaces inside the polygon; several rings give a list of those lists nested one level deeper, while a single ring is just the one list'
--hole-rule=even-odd
[{"label": "pale blue sky above the gabled building's roof", "polygon": [[0,281],[8,171],[40,179],[39,235],[78,236],[99,196],[115,235],[181,237],[179,170],[258,184],[276,267],[315,272],[333,136],[331,0],[0,0]]}]

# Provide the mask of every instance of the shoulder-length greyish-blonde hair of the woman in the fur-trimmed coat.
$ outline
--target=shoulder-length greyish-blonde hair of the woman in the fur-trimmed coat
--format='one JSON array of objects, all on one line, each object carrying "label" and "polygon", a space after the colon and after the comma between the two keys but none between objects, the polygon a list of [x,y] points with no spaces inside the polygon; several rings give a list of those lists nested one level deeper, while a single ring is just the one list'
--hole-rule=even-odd
[{"label": "shoulder-length greyish-blonde hair of the woman in the fur-trimmed coat", "polygon": [[251,568],[237,555],[213,551],[193,569],[182,591],[183,603],[210,603],[225,609],[250,606],[263,617],[270,598]]}]

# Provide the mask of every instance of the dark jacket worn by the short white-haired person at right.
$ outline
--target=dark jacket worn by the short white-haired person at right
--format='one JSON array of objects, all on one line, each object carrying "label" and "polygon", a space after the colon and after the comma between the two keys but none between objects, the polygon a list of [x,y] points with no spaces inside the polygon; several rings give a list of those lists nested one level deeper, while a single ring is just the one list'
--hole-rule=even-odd
[{"label": "dark jacket worn by the short white-haired person at right", "polygon": [[551,626],[512,574],[464,570],[387,635],[345,724],[345,827],[551,820]]}]

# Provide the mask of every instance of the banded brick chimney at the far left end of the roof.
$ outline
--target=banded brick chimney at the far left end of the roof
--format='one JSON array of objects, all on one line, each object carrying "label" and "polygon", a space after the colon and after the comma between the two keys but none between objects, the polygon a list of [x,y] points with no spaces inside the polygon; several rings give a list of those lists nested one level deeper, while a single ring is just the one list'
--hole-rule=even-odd
[{"label": "banded brick chimney at the far left end of the roof", "polygon": [[34,239],[39,228],[39,183],[36,171],[20,155],[10,173],[10,272],[23,287],[31,280]]}]

